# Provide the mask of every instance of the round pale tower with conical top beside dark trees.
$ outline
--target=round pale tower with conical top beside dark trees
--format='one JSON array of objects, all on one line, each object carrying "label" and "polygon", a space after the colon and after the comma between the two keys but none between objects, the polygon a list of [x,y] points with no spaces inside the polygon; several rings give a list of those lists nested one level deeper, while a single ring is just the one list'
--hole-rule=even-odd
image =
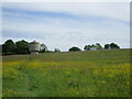
[{"label": "round pale tower with conical top beside dark trees", "polygon": [[30,52],[31,54],[38,54],[38,51],[40,51],[40,43],[38,42],[31,42],[30,43]]}]

